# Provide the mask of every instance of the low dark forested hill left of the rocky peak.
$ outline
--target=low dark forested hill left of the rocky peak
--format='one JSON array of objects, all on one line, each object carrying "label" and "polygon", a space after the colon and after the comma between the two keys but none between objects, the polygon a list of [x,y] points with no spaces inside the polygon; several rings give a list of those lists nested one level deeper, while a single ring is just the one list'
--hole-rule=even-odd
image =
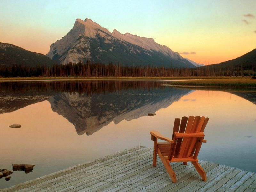
[{"label": "low dark forested hill left of the rocky peak", "polygon": [[51,66],[57,64],[57,62],[43,54],[31,52],[12,44],[0,42],[0,65],[12,66],[13,64]]}]

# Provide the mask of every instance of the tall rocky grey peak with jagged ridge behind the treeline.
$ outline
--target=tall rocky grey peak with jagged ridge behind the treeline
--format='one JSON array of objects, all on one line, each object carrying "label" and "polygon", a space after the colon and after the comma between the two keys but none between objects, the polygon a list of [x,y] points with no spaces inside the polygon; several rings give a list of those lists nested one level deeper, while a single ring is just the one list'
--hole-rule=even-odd
[{"label": "tall rocky grey peak with jagged ridge behind the treeline", "polygon": [[47,56],[62,64],[90,60],[119,62],[128,66],[150,64],[177,68],[195,67],[179,53],[156,43],[152,38],[121,34],[116,29],[111,33],[87,18],[84,21],[76,19],[68,34],[50,46]]}]

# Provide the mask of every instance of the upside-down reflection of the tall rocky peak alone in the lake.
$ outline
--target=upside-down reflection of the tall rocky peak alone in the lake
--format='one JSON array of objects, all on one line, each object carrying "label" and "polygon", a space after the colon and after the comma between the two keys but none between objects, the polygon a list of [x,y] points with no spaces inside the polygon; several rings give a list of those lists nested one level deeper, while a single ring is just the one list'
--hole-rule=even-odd
[{"label": "upside-down reflection of the tall rocky peak alone in the lake", "polygon": [[87,135],[98,131],[114,121],[132,120],[147,116],[148,112],[156,112],[166,108],[174,101],[190,92],[181,89],[126,89],[116,93],[100,93],[87,95],[78,93],[58,93],[48,101],[52,110],[71,122],[78,135]]}]

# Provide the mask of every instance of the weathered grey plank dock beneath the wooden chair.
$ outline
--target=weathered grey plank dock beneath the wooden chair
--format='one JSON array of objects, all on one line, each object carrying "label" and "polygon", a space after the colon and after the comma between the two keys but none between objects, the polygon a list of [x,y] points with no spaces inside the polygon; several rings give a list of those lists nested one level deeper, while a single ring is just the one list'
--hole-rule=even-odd
[{"label": "weathered grey plank dock beneath the wooden chair", "polygon": [[152,166],[152,153],[137,146],[0,191],[256,191],[256,173],[207,161],[199,161],[206,182],[191,163],[178,162],[172,163],[177,176],[172,183],[160,159]]}]

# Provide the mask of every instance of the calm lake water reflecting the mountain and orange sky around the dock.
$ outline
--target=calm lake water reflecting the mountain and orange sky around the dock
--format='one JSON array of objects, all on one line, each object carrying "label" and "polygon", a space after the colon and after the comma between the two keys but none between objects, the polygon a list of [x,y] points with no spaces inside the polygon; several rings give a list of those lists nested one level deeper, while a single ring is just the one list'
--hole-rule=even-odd
[{"label": "calm lake water reflecting the mountain and orange sky around the dock", "polygon": [[[192,90],[167,81],[0,82],[0,169],[6,188],[142,145],[150,130],[172,137],[174,119],[210,120],[198,158],[256,172],[256,91]],[[148,112],[156,113],[148,116]],[[9,128],[21,124],[21,128]]]}]

